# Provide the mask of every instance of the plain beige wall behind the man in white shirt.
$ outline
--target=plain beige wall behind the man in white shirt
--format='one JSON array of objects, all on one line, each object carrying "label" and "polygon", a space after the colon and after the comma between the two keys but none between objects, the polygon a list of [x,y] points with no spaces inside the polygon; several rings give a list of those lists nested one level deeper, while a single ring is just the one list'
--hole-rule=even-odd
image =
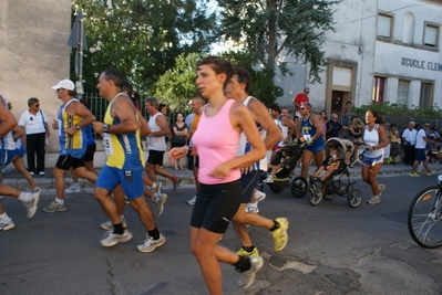
[{"label": "plain beige wall behind the man in white shirt", "polygon": [[[0,94],[18,119],[30,97],[40,99],[50,120],[56,117],[60,99],[51,86],[69,77],[70,32],[70,0],[0,0]],[[53,131],[48,151],[58,150]]]}]

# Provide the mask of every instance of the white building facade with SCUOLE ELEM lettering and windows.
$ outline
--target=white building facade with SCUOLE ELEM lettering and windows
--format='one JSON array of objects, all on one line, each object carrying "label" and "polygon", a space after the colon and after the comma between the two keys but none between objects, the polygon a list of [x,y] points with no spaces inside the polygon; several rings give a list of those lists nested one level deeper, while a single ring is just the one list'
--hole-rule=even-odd
[{"label": "white building facade with SCUOLE ELEM lettering and windows", "polygon": [[279,104],[291,105],[308,86],[313,107],[329,114],[340,114],[348,101],[442,106],[441,0],[343,0],[335,11],[336,31],[323,42],[322,84],[309,84],[308,67],[297,66],[296,84],[279,77]]}]

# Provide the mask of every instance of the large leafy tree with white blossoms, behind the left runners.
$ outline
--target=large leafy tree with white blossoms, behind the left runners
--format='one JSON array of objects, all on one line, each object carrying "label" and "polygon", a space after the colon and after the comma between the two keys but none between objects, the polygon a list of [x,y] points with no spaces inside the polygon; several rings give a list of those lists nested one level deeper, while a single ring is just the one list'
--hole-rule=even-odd
[{"label": "large leafy tree with white blossoms, behind the left runners", "polygon": [[83,72],[89,92],[106,67],[119,69],[146,92],[176,56],[207,52],[216,39],[206,0],[73,0],[73,14],[78,8],[90,46]]}]

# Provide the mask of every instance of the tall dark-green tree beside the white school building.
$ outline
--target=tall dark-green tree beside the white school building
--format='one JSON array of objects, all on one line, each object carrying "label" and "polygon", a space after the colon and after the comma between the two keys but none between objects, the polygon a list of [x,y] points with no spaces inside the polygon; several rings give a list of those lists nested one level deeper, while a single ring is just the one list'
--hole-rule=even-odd
[{"label": "tall dark-green tree beside the white school building", "polygon": [[[309,78],[320,82],[326,64],[321,44],[332,28],[332,6],[340,0],[218,0],[223,34],[258,56],[261,65],[290,74],[278,56],[292,55],[296,63],[309,63]],[[270,80],[274,83],[273,76]]]}]

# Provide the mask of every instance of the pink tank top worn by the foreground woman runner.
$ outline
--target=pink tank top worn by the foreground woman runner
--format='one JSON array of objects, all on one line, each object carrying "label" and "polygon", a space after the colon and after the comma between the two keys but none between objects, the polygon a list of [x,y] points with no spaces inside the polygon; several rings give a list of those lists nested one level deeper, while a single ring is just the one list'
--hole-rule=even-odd
[{"label": "pink tank top worn by the foreground woman runner", "polygon": [[192,137],[199,157],[198,180],[201,183],[226,183],[240,178],[238,168],[230,170],[224,179],[209,176],[215,167],[236,157],[240,134],[230,124],[229,114],[234,103],[234,99],[228,99],[213,117],[206,117],[206,107],[203,108],[198,128]]}]

